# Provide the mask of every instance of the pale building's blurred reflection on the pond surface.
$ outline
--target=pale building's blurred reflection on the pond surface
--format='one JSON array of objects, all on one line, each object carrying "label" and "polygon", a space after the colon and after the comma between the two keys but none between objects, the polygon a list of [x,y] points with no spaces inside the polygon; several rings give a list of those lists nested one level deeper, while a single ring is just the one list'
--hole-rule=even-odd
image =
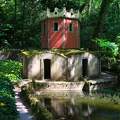
[{"label": "pale building's blurred reflection on the pond surface", "polygon": [[[89,117],[93,108],[87,104],[77,104],[74,98],[43,98],[45,107],[53,113],[56,118],[79,120],[81,117]],[[43,103],[42,103],[43,104]]]}]

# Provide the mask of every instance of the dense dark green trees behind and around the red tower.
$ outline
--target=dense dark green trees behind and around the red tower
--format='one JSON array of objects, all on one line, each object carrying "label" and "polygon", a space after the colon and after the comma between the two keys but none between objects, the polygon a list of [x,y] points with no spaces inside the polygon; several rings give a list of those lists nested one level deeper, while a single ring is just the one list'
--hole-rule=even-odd
[{"label": "dense dark green trees behind and around the red tower", "polygon": [[39,14],[55,7],[80,11],[82,48],[94,48],[96,38],[119,44],[119,0],[1,0],[0,48],[39,49]]}]

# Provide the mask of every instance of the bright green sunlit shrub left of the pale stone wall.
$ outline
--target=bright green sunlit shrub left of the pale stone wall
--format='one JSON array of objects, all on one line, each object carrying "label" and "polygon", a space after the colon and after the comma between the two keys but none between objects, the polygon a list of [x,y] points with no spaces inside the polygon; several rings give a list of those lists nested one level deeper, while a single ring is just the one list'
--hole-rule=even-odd
[{"label": "bright green sunlit shrub left of the pale stone wall", "polygon": [[21,79],[22,63],[6,60],[0,61],[0,75],[4,75],[11,82],[18,82]]}]

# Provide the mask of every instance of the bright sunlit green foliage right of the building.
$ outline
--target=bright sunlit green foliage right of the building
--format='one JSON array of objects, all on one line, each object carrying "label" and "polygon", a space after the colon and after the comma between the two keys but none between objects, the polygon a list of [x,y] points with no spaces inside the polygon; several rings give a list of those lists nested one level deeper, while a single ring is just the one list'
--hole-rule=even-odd
[{"label": "bright sunlit green foliage right of the building", "polygon": [[118,63],[120,47],[118,41],[111,42],[102,38],[97,38],[94,41],[101,51],[102,69],[118,74],[120,70]]}]

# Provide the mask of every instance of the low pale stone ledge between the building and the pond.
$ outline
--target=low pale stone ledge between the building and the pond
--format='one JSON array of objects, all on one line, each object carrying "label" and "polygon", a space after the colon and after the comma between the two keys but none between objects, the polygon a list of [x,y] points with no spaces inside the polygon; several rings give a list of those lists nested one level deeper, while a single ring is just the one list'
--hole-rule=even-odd
[{"label": "low pale stone ledge between the building and the pond", "polygon": [[[29,83],[32,83],[33,80],[24,79],[19,83],[19,86],[22,87]],[[36,86],[37,91],[46,90],[46,91],[87,91],[109,88],[117,84],[117,77],[102,73],[96,79],[89,79],[79,82],[66,82],[66,81],[50,81],[50,80],[34,80],[34,85]],[[87,88],[86,88],[87,87]]]}]

